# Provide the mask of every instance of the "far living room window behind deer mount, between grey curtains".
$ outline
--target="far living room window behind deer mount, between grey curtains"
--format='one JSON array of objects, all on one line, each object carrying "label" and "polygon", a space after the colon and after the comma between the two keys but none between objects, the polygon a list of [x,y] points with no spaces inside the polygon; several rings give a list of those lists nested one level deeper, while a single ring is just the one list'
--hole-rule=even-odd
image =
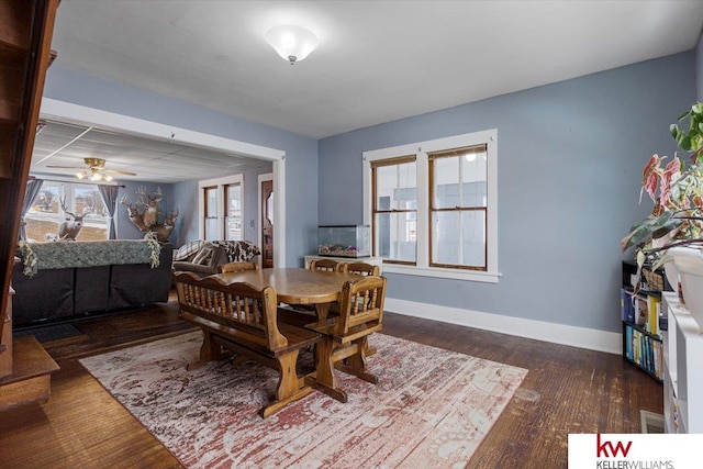
[{"label": "far living room window behind deer mount, between grey curtains", "polygon": [[82,217],[78,241],[107,239],[110,215],[94,185],[45,180],[24,221],[30,241],[44,242],[59,237],[59,226],[74,220],[68,212]]}]

